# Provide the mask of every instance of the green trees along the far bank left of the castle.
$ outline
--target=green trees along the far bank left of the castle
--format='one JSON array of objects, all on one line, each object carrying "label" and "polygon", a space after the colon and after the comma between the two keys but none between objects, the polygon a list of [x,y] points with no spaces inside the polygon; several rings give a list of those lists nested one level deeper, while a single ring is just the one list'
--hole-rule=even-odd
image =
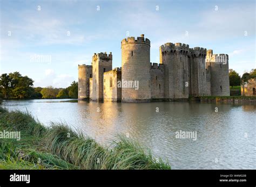
[{"label": "green trees along the far bank left of the castle", "polygon": [[33,80],[22,76],[19,72],[2,74],[0,76],[0,98],[77,98],[78,82],[73,81],[68,88],[33,87]]}]

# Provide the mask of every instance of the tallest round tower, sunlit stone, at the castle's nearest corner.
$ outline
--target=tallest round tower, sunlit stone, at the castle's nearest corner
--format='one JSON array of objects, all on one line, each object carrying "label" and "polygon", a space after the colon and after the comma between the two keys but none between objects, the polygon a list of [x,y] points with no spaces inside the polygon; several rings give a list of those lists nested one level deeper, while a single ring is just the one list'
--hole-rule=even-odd
[{"label": "tallest round tower, sunlit stone, at the castle's nearest corner", "polygon": [[151,99],[150,40],[144,34],[121,42],[122,102],[149,102]]}]

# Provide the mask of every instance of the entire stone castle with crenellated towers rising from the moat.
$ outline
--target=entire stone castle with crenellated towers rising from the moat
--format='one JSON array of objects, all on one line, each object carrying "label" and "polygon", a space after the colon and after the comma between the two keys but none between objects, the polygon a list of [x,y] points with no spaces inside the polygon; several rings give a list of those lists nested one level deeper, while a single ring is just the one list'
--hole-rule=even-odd
[{"label": "entire stone castle with crenellated towers rising from the moat", "polygon": [[160,63],[150,62],[144,34],[121,42],[122,68],[112,69],[112,53],[92,56],[78,65],[78,99],[113,102],[176,100],[190,96],[230,96],[228,55],[205,48],[166,43]]}]

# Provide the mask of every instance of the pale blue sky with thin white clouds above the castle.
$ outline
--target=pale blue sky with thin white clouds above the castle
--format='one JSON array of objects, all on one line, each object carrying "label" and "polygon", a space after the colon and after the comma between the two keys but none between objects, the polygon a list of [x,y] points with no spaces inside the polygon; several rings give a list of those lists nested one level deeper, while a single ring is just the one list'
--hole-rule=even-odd
[{"label": "pale blue sky with thin white clouds above the castle", "polygon": [[93,53],[112,52],[122,66],[121,41],[183,43],[228,54],[240,75],[256,68],[255,1],[14,1],[0,0],[0,74],[19,71],[35,87],[66,88],[78,80],[78,64]]}]

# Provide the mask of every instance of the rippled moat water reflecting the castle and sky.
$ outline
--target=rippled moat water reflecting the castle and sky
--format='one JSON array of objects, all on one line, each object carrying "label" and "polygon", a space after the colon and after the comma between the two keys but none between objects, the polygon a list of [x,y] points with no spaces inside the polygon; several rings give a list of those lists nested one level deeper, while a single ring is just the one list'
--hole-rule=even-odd
[{"label": "rippled moat water reflecting the castle and sky", "polygon": [[[154,156],[169,160],[172,169],[256,169],[255,104],[67,100],[8,100],[2,105],[27,109],[46,126],[65,122],[104,144],[129,133]],[[197,140],[177,139],[180,130],[197,132]]]}]

